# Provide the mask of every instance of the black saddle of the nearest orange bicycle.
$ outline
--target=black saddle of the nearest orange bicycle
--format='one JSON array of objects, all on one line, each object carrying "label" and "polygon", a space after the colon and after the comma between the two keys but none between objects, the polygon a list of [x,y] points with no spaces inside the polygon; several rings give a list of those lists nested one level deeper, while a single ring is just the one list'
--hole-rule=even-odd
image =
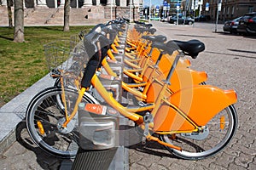
[{"label": "black saddle of the nearest orange bicycle", "polygon": [[167,42],[166,45],[172,47],[174,43],[177,44],[184,54],[188,54],[193,59],[196,59],[197,55],[205,50],[205,44],[199,40],[189,40],[188,42],[173,40]]}]

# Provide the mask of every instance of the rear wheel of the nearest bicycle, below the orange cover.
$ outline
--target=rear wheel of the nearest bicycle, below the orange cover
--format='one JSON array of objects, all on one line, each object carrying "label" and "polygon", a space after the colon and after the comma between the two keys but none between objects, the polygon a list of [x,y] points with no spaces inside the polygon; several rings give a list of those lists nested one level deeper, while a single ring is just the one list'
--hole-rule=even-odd
[{"label": "rear wheel of the nearest bicycle, below the orange cover", "polygon": [[166,143],[182,148],[174,150],[166,147],[175,156],[189,160],[199,160],[213,156],[230,142],[235,135],[237,127],[236,109],[233,105],[220,111],[207,123],[204,133],[176,133],[160,135]]}]

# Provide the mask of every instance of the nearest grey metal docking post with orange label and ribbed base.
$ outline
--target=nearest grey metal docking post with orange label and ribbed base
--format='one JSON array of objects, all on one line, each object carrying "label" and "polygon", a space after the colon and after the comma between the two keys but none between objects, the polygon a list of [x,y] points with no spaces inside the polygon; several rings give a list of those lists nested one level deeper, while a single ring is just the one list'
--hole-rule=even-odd
[{"label": "nearest grey metal docking post with orange label and ribbed base", "polygon": [[123,169],[126,121],[110,106],[80,103],[79,150],[72,169]]}]

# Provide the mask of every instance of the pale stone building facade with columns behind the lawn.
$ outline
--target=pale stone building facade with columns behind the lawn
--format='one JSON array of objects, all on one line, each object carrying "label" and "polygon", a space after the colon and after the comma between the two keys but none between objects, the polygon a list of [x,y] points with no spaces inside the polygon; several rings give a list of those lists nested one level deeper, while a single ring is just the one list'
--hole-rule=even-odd
[{"label": "pale stone building facade with columns behind the lawn", "polygon": [[[88,11],[86,19],[115,19],[125,17],[131,20],[138,20],[140,9],[143,7],[143,0],[70,0],[71,8],[81,8]],[[65,0],[23,0],[24,8],[33,8],[40,11],[45,8],[64,8]],[[7,6],[7,0],[0,0],[1,6]],[[79,9],[80,11],[80,9]],[[112,14],[112,15],[111,15]]]}]

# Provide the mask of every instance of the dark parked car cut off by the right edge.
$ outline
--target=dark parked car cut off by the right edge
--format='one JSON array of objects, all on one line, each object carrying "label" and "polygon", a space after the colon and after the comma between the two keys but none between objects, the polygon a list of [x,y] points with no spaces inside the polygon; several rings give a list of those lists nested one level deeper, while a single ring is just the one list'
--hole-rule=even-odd
[{"label": "dark parked car cut off by the right edge", "polygon": [[256,34],[256,12],[242,16],[237,26],[237,32],[241,34]]}]

